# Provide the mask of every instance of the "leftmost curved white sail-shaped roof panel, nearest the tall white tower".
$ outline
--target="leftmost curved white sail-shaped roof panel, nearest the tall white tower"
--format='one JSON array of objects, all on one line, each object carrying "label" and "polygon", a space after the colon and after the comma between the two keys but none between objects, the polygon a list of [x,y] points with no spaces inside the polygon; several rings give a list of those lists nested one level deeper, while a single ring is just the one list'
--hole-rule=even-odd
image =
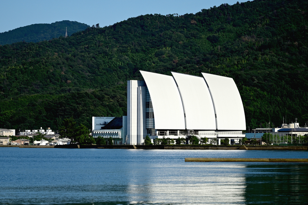
[{"label": "leftmost curved white sail-shaped roof panel, nearest the tall white tower", "polygon": [[172,76],[140,70],[153,105],[155,129],[185,129],[184,109]]}]

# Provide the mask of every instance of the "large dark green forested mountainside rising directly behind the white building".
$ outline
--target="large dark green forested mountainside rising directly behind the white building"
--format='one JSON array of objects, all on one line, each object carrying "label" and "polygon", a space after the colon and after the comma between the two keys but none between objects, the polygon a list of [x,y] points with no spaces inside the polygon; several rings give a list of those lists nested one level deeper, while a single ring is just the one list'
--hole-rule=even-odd
[{"label": "large dark green forested mountainside rising directly behind the white building", "polygon": [[[232,77],[246,126],[308,120],[307,1],[255,0],[148,14],[38,43],[0,46],[0,127],[57,130],[63,118],[126,115],[139,70]],[[225,99],[228,102],[228,99]]]}]

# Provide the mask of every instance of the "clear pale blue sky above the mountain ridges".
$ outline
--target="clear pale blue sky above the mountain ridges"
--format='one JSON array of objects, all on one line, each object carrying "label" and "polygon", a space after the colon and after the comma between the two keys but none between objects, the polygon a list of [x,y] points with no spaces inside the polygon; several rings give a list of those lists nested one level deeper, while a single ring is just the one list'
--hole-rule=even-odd
[{"label": "clear pale blue sky above the mountain ridges", "polygon": [[[144,14],[186,14],[238,0],[1,0],[0,32],[70,20],[101,27]],[[239,1],[241,2],[241,1]]]}]

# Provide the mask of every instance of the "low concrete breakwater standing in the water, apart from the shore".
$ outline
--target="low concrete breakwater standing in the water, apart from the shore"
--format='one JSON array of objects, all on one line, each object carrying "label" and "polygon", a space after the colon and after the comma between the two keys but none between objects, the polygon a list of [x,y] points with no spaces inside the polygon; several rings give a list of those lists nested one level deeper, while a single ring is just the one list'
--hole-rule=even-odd
[{"label": "low concrete breakwater standing in the water, apart from the shore", "polygon": [[185,158],[185,162],[308,162],[308,159],[286,158]]}]

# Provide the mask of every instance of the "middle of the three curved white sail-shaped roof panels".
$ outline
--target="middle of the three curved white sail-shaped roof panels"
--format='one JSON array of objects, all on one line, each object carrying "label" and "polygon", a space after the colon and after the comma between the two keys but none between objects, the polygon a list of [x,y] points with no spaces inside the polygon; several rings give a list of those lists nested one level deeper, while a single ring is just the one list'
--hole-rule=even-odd
[{"label": "middle of the three curved white sail-shaped roof panels", "polygon": [[171,72],[179,86],[186,129],[216,130],[213,101],[203,77]]}]

